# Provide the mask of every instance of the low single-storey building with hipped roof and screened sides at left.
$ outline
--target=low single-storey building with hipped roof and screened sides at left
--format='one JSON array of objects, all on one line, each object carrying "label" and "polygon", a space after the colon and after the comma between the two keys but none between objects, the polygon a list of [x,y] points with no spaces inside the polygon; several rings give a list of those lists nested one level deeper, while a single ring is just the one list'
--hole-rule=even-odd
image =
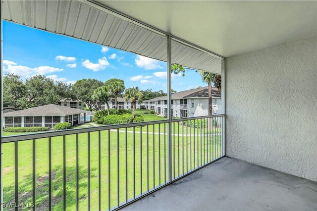
[{"label": "low single-storey building with hipped roof and screened sides at left", "polygon": [[[68,122],[72,126],[81,123],[80,116],[86,111],[54,104],[38,106],[3,114],[4,127],[50,127]],[[86,119],[86,118],[84,118]]]}]

